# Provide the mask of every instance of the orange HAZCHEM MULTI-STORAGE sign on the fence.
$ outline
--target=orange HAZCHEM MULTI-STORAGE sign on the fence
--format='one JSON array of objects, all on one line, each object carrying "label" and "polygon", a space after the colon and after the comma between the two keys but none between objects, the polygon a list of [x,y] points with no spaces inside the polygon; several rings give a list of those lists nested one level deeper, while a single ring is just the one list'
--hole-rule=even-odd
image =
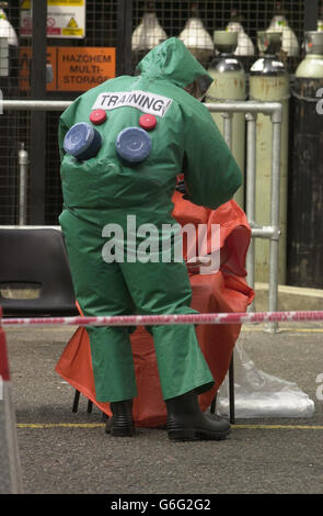
[{"label": "orange HAZCHEM MULTI-STORAGE sign on the fence", "polygon": [[[20,89],[31,89],[32,48],[20,48]],[[114,47],[48,46],[47,64],[53,67],[53,81],[47,91],[86,91],[116,75]]]}]

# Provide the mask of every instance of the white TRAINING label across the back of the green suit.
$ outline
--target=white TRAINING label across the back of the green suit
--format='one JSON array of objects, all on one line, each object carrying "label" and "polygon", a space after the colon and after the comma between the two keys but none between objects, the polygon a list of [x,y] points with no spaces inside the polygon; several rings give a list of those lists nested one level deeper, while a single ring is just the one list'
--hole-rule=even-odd
[{"label": "white TRAINING label across the back of the green suit", "polygon": [[148,91],[113,91],[109,93],[101,93],[95,100],[92,109],[102,109],[105,111],[114,110],[116,108],[136,108],[143,113],[154,114],[163,117],[171,103],[172,99],[162,97]]}]

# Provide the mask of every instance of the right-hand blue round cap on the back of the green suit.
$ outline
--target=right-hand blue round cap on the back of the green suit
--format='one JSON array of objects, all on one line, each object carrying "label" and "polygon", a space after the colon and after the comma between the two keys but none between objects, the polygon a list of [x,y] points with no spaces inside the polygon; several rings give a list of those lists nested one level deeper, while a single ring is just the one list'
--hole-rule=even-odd
[{"label": "right-hand blue round cap on the back of the green suit", "polygon": [[141,162],[150,154],[151,138],[140,127],[127,127],[117,136],[116,150],[119,157],[129,164]]}]

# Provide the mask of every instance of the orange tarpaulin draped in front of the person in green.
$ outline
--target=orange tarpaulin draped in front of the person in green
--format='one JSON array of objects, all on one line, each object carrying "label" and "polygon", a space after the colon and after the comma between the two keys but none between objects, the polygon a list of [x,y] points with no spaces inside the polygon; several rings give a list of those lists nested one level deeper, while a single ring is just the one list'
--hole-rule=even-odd
[{"label": "orange tarpaulin draped in front of the person in green", "polygon": [[[221,268],[211,274],[189,274],[192,307],[200,313],[245,312],[254,292],[245,281],[244,262],[251,229],[244,212],[234,201],[216,211],[196,206],[183,200],[177,192],[173,201],[173,216],[182,226],[187,223],[196,227],[207,224],[208,244],[211,224],[220,225]],[[240,329],[241,325],[199,325],[196,328],[199,346],[216,381],[211,391],[199,396],[203,411],[210,405],[224,380]],[[131,334],[131,347],[138,388],[138,396],[134,400],[135,424],[141,427],[162,426],[166,422],[166,410],[161,395],[153,339],[143,327],[138,327]],[[55,370],[111,415],[109,404],[95,400],[90,341],[84,327],[78,328],[71,337]]]}]

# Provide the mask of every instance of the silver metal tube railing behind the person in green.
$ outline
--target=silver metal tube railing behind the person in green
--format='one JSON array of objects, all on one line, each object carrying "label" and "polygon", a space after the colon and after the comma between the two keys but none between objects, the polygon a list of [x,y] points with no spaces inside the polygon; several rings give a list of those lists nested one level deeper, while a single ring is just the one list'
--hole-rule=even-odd
[{"label": "silver metal tube railing behind the person in green", "polygon": [[[43,100],[3,100],[3,110],[22,111],[64,111],[72,101],[43,101]],[[254,288],[255,248],[254,238],[269,239],[269,272],[268,272],[268,311],[276,312],[278,309],[278,257],[279,257],[279,198],[280,198],[280,136],[282,122],[282,105],[279,102],[255,102],[255,101],[228,101],[221,103],[206,103],[211,113],[222,113],[223,137],[229,148],[232,147],[232,116],[233,113],[244,113],[246,120],[246,178],[245,178],[245,214],[252,229],[252,242],[246,256],[246,271],[249,284]],[[257,114],[270,116],[272,131],[272,192],[270,192],[270,225],[261,226],[255,221],[255,184],[256,184],[256,119]],[[25,184],[26,155],[20,160],[20,210],[25,213],[25,199],[23,186]],[[24,217],[20,216],[19,226],[0,227],[44,227],[27,226]],[[60,229],[59,226],[46,226]],[[253,311],[253,305],[250,309]],[[267,330],[277,332],[278,323],[267,325]]]}]

